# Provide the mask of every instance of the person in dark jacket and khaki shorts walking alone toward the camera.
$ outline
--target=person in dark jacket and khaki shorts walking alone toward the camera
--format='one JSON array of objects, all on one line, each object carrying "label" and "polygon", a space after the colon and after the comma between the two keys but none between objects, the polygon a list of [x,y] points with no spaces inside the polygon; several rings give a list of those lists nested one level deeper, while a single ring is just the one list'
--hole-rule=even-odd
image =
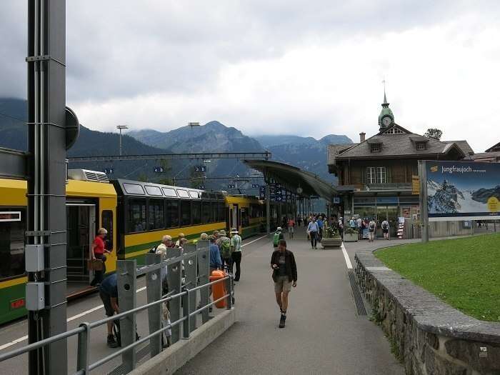
[{"label": "person in dark jacket and khaki shorts walking alone toward the camera", "polygon": [[274,293],[276,302],[281,311],[279,328],[284,328],[286,309],[288,308],[288,294],[291,286],[297,286],[297,265],[294,253],[286,249],[286,241],[279,241],[278,249],[271,256],[271,269],[273,269]]}]

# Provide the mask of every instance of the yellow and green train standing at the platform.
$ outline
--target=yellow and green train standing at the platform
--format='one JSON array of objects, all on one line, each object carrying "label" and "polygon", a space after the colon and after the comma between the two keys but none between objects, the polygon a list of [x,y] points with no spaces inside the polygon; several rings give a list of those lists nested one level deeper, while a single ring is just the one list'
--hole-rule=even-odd
[{"label": "yellow and green train standing at the platform", "polygon": [[[0,324],[26,314],[24,309],[24,231],[26,181],[0,179]],[[189,240],[215,230],[238,228],[246,238],[260,233],[265,204],[252,196],[117,179],[84,169],[70,170],[66,184],[67,294],[88,292],[87,268],[97,229],[108,230],[106,272],[116,259],[137,259],[159,244],[164,234]]]}]

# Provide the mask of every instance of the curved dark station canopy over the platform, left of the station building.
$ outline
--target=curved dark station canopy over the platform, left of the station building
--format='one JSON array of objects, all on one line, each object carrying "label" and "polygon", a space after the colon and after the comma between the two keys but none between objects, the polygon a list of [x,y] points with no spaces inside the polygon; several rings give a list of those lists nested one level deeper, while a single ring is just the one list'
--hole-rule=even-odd
[{"label": "curved dark station canopy over the platform, left of the station building", "polygon": [[[316,174],[304,171],[290,164],[270,160],[244,160],[250,168],[264,174],[266,181],[284,184],[284,188],[299,196],[320,196],[331,202],[338,192],[329,182],[320,179]],[[299,191],[297,191],[298,188]]]}]

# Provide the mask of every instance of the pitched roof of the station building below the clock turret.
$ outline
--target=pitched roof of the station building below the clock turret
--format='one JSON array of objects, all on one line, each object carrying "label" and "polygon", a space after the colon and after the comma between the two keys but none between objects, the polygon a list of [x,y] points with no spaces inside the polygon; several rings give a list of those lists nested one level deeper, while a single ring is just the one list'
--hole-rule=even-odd
[{"label": "pitched roof of the station building below the clock turret", "polygon": [[[402,134],[386,134],[386,131],[392,127],[400,129]],[[414,144],[416,139],[418,141],[425,139],[426,149],[417,150]],[[381,143],[380,151],[376,153],[371,152],[369,146],[374,142]],[[378,134],[371,136],[369,139],[366,139],[366,141],[339,153],[336,156],[336,159],[364,159],[373,158],[374,156],[379,158],[389,156],[447,154],[454,148],[461,154],[464,154],[464,156],[466,155],[466,153],[455,143],[436,141],[436,139],[411,133],[411,131],[404,129],[402,126],[394,124],[387,129],[382,129]]]}]

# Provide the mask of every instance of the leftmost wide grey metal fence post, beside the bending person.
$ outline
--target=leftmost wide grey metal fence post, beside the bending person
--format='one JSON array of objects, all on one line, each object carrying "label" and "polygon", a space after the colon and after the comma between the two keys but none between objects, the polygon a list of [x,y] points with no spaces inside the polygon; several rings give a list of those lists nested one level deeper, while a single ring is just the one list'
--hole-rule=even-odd
[{"label": "leftmost wide grey metal fence post, beside the bending person", "polygon": [[[137,265],[136,260],[116,261],[118,279],[119,311],[125,312],[136,308]],[[136,314],[120,320],[121,346],[129,346],[136,341]],[[136,366],[136,350],[132,348],[121,355],[124,372],[129,373]]]}]

